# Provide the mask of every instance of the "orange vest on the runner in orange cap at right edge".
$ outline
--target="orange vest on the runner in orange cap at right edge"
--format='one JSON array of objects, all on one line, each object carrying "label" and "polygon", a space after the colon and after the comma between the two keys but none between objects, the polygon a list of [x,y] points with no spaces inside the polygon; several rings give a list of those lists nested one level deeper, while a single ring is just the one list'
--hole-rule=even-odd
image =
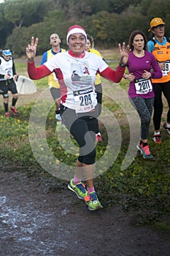
[{"label": "orange vest on the runner in orange cap at right edge", "polygon": [[170,42],[166,42],[166,45],[159,45],[156,42],[152,54],[158,62],[165,62],[162,78],[152,79],[152,83],[168,82],[170,80]]}]

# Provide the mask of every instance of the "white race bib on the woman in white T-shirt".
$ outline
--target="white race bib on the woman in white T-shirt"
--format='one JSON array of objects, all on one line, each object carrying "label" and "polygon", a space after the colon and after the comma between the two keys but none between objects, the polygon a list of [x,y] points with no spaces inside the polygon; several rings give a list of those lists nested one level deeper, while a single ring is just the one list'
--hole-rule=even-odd
[{"label": "white race bib on the woman in white T-shirt", "polygon": [[73,94],[76,113],[89,112],[95,108],[94,102],[96,94],[94,94],[92,87],[73,91]]}]

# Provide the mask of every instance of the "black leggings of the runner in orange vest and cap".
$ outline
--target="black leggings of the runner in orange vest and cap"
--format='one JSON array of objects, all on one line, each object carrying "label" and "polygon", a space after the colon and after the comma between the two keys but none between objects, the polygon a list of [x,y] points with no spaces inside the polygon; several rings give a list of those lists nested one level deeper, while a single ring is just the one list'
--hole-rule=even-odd
[{"label": "black leggings of the runner in orange vest and cap", "polygon": [[153,124],[155,130],[159,130],[161,127],[161,116],[163,113],[162,93],[166,97],[169,105],[167,121],[170,122],[170,81],[166,83],[153,83],[152,86],[155,93],[155,100],[153,105]]}]

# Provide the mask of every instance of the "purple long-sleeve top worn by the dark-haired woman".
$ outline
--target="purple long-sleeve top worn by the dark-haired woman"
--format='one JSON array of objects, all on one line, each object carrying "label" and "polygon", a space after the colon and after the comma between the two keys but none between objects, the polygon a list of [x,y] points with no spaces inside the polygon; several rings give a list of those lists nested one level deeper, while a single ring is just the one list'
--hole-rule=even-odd
[{"label": "purple long-sleeve top worn by the dark-haired woman", "polygon": [[[158,66],[158,62],[155,59],[155,56],[152,55],[152,53],[148,52],[147,50],[144,50],[144,56],[139,58],[134,55],[134,52],[131,51],[128,57],[128,72],[133,73],[135,76],[135,80],[133,82],[130,82],[129,89],[128,89],[128,97],[134,98],[134,97],[143,97],[143,98],[152,98],[154,97],[154,91],[149,91],[147,94],[136,94],[136,87],[135,87],[135,81],[137,79],[142,78],[142,74],[144,73],[144,70],[147,70],[151,73],[151,78],[161,78],[162,72],[160,67]],[[152,80],[152,79],[151,79]]]}]

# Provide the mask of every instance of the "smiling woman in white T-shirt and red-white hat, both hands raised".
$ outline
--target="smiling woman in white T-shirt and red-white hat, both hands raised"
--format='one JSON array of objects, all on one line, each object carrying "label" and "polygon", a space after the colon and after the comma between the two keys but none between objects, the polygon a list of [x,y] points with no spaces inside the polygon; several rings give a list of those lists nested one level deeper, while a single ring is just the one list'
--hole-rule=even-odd
[{"label": "smiling woman in white T-shirt and red-white hat, both hands raised", "polygon": [[[82,26],[74,25],[66,36],[69,51],[58,53],[41,67],[34,63],[38,38],[31,37],[31,44],[26,48],[28,75],[31,79],[43,78],[55,72],[61,86],[61,116],[67,129],[80,146],[77,159],[77,171],[68,187],[87,203],[90,210],[102,208],[94,186],[94,168],[96,158],[95,129],[98,109],[95,92],[96,73],[102,77],[120,82],[128,61],[129,47],[119,44],[120,65],[112,70],[99,56],[85,51],[87,34]],[[90,132],[92,131],[92,132]],[[82,184],[85,173],[87,189]]]}]

